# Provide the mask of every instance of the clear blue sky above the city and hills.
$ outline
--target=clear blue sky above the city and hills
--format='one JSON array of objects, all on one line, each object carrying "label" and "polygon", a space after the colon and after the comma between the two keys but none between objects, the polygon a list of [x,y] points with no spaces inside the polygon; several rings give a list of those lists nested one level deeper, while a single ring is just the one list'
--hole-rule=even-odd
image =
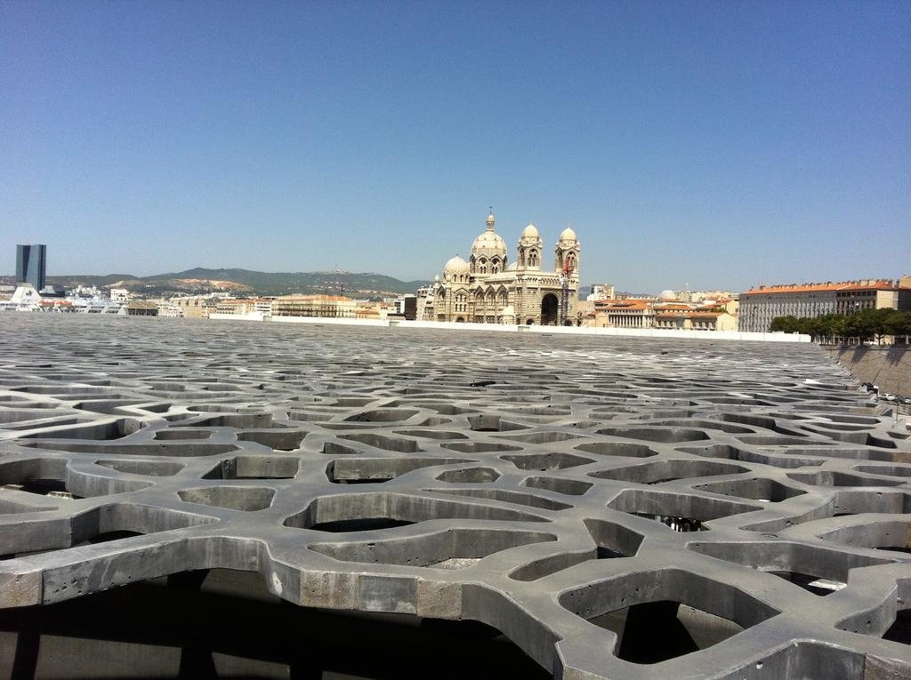
[{"label": "clear blue sky above the city and hills", "polygon": [[0,271],[911,273],[911,2],[0,0]]}]

